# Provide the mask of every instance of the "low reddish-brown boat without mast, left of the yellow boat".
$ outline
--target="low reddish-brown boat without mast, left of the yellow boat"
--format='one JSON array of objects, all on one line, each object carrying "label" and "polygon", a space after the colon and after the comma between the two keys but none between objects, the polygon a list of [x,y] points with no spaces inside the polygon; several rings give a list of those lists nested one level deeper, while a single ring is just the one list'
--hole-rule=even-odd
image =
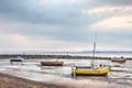
[{"label": "low reddish-brown boat without mast, left of the yellow boat", "polygon": [[63,66],[64,62],[41,62],[42,66]]}]

